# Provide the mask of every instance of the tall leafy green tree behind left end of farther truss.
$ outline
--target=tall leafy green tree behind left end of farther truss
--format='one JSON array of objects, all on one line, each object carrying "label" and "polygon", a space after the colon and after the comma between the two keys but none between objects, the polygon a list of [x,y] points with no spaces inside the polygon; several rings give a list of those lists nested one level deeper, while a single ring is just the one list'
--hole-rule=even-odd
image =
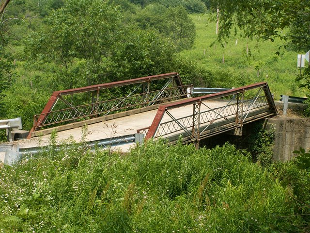
[{"label": "tall leafy green tree behind left end of farther truss", "polygon": [[[72,76],[75,59],[80,62],[80,76],[84,84],[104,81],[102,63],[109,56],[110,48],[118,36],[119,10],[101,0],[68,0],[62,8],[47,17],[47,29],[31,33],[25,52],[34,60],[56,62],[62,70],[59,82],[72,88],[79,82]],[[66,83],[71,83],[66,86]]]}]

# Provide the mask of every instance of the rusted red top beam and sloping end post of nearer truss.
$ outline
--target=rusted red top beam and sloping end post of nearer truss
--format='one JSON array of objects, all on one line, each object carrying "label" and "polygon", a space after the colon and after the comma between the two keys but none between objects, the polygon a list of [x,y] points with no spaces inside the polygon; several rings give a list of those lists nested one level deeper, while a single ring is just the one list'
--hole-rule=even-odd
[{"label": "rusted red top beam and sloping end post of nearer truss", "polygon": [[[187,99],[187,100],[180,100],[180,101],[177,101],[177,102],[161,105],[161,106],[159,106],[159,108],[157,110],[155,118],[154,118],[154,120],[152,122],[152,125],[150,126],[150,129],[149,129],[148,133],[145,136],[145,139],[147,140],[147,139],[150,139],[150,138],[154,137],[154,135],[156,133],[156,130],[157,130],[159,124],[160,124],[160,121],[163,118],[166,110],[168,110],[168,109],[178,108],[178,107],[182,107],[182,106],[185,106],[185,105],[193,104],[193,103],[204,101],[204,100],[213,100],[213,99],[217,99],[217,98],[221,98],[221,97],[225,97],[225,96],[229,96],[229,95],[234,95],[234,94],[241,93],[243,91],[247,91],[247,90],[251,90],[251,89],[255,89],[255,88],[258,88],[258,87],[268,87],[268,84],[265,83],[265,82],[255,83],[255,84],[251,84],[251,85],[248,85],[248,86],[242,86],[242,87],[238,87],[238,88],[235,88],[235,89],[232,89],[232,90],[222,91],[222,92],[211,94],[211,95],[206,95],[206,96],[202,96],[202,97],[196,97],[196,98]],[[269,88],[265,88],[265,90],[269,91]],[[266,92],[265,92],[265,95],[266,95]],[[270,106],[270,104],[272,105],[271,101],[269,101],[268,104],[269,104],[269,106]],[[273,105],[274,105],[274,103],[273,103]],[[277,111],[276,108],[273,109],[273,106],[270,106],[270,108],[273,111],[274,110]]]}]

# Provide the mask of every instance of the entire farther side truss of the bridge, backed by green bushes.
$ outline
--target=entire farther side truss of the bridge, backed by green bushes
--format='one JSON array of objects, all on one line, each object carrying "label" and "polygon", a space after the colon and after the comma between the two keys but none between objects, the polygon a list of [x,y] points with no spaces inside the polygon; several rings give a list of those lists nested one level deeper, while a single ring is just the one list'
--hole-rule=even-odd
[{"label": "entire farther side truss of the bridge, backed by green bushes", "polygon": [[[169,73],[56,91],[51,95],[42,113],[34,116],[31,132],[42,127],[186,98],[188,87],[191,85],[183,85],[178,73]],[[111,98],[116,92],[127,94]],[[84,103],[77,104],[76,99]],[[89,103],[85,103],[85,100]]]}]

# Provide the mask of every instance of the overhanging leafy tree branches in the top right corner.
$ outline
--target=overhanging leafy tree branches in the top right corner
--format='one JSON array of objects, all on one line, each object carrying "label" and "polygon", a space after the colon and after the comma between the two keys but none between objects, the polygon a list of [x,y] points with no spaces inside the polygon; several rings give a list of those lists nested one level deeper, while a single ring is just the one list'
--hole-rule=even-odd
[{"label": "overhanging leafy tree branches in the top right corner", "polygon": [[[220,10],[219,39],[229,37],[232,29],[234,33],[240,29],[240,33],[248,38],[273,41],[279,37],[290,41],[298,50],[309,49],[309,1],[223,0],[211,3],[214,10]],[[288,28],[291,31],[286,32]]]}]

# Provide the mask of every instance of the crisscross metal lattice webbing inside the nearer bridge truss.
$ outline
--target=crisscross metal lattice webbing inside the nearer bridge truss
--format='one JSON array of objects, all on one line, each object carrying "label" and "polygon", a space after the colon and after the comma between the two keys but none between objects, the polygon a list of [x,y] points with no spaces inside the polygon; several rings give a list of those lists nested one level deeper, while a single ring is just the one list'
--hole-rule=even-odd
[{"label": "crisscross metal lattice webbing inside the nearer bridge truss", "polygon": [[[184,131],[194,138],[194,134],[197,134],[197,130],[194,130],[197,125],[204,127],[204,130],[218,121],[226,121],[227,124],[239,125],[246,120],[250,111],[268,106],[266,98],[261,94],[261,91],[250,100],[236,101],[233,98],[232,100],[225,101],[227,103],[225,106],[217,108],[208,106],[208,101],[201,102],[200,116],[195,118],[193,114],[175,118],[172,111],[167,110],[166,114],[170,116],[171,120],[159,124],[155,137]],[[220,100],[218,104],[223,104],[225,101]],[[233,118],[235,116],[238,116],[238,121]],[[199,122],[195,122],[197,119],[199,119]]]}]

